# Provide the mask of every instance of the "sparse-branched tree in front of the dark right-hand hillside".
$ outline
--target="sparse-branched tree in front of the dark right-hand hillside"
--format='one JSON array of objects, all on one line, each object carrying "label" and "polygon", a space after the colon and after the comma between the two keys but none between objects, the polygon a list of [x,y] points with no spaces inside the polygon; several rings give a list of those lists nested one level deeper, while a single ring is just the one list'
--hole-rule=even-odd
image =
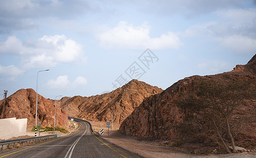
[{"label": "sparse-branched tree in front of the dark right-hand hillside", "polygon": [[183,93],[181,100],[175,101],[186,117],[201,117],[210,123],[227,153],[232,153],[221,134],[227,133],[235,150],[234,138],[231,132],[230,118],[239,105],[255,94],[253,81],[226,81],[220,83],[213,80],[198,82],[193,90]]}]

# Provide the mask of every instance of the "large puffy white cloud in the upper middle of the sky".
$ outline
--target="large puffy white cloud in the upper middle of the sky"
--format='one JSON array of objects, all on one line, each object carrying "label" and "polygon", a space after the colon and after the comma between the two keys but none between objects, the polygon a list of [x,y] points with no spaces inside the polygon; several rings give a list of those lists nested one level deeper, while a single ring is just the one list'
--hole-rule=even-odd
[{"label": "large puffy white cloud in the upper middle of the sky", "polygon": [[179,37],[172,32],[152,38],[149,36],[149,26],[143,24],[134,27],[127,22],[121,21],[114,28],[107,28],[97,35],[100,45],[104,48],[128,48],[163,50],[168,48],[177,49],[183,45]]}]

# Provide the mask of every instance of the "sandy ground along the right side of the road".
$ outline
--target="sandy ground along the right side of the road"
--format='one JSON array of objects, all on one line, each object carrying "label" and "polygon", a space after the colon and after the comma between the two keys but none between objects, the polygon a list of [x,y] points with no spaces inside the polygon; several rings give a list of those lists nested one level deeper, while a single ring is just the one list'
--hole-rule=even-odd
[{"label": "sandy ground along the right side of the road", "polygon": [[122,135],[118,132],[120,124],[113,123],[113,129],[109,129],[109,135],[106,122],[91,122],[91,124],[95,131],[100,132],[100,129],[104,129],[103,139],[144,157],[256,157],[256,153],[252,152],[194,155],[184,149],[172,147],[164,141],[145,141]]}]

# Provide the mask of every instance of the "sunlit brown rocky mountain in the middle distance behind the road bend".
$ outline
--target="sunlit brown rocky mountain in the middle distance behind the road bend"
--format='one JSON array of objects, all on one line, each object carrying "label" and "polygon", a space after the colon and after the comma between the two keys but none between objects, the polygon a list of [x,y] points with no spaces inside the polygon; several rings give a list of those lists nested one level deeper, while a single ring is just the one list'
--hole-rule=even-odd
[{"label": "sunlit brown rocky mountain in the middle distance behind the road bend", "polygon": [[[73,108],[75,116],[97,121],[110,121],[111,111],[113,122],[121,123],[143,102],[144,98],[162,92],[161,88],[145,82],[131,80],[126,85],[110,93],[69,98],[69,107]],[[67,105],[63,102],[61,107]]]}]

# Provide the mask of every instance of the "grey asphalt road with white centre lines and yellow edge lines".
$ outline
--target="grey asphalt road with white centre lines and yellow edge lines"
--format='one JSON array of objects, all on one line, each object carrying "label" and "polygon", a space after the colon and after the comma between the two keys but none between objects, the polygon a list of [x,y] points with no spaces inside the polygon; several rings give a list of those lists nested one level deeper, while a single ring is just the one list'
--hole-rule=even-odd
[{"label": "grey asphalt road with white centre lines and yellow edge lines", "polygon": [[0,152],[1,157],[141,157],[91,134],[81,121],[77,132],[53,140]]}]

